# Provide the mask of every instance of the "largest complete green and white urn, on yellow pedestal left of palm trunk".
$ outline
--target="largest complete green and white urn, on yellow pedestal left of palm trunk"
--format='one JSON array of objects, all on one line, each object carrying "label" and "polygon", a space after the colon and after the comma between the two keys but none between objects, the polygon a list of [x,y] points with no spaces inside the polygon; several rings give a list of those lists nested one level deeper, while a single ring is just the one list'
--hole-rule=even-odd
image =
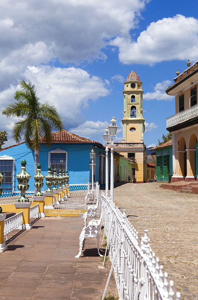
[{"label": "largest complete green and white urn, on yellow pedestal left of palm trunk", "polygon": [[21,172],[18,173],[16,175],[16,179],[18,180],[18,189],[21,192],[21,196],[17,199],[17,202],[29,202],[29,199],[27,197],[25,197],[25,192],[26,190],[28,190],[29,185],[28,185],[28,181],[31,177],[31,175],[29,173],[26,172],[26,160],[23,159],[21,161]]}]

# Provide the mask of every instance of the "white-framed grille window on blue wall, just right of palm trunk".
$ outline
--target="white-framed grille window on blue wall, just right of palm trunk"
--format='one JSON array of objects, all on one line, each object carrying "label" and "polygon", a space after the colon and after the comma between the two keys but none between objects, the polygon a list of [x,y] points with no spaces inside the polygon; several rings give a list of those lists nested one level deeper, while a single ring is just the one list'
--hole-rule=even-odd
[{"label": "white-framed grille window on blue wall, just right of palm trunk", "polygon": [[[66,152],[50,152],[49,165],[53,170],[56,169],[57,173],[61,173],[66,169]],[[57,174],[58,175],[58,174]]]}]

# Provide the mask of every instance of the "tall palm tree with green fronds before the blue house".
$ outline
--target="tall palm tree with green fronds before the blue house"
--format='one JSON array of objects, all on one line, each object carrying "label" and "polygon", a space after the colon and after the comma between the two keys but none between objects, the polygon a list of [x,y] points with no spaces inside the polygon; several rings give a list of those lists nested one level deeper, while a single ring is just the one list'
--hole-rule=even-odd
[{"label": "tall palm tree with green fronds before the blue house", "polygon": [[26,83],[24,80],[19,82],[21,90],[17,90],[14,95],[16,102],[8,105],[2,115],[9,117],[22,118],[15,123],[12,130],[12,138],[16,143],[20,143],[24,137],[29,149],[34,150],[35,174],[39,163],[39,150],[41,137],[46,146],[51,143],[53,128],[63,130],[64,125],[61,121],[55,106],[46,101],[40,103],[36,87],[32,82]]}]

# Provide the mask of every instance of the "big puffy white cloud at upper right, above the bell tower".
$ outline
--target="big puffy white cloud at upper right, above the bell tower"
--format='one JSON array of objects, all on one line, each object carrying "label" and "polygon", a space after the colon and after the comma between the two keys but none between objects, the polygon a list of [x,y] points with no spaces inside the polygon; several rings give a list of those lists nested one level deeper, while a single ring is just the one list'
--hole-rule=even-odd
[{"label": "big puffy white cloud at upper right, above the bell tower", "polygon": [[124,64],[154,64],[174,59],[197,60],[198,19],[176,15],[152,22],[137,41],[122,36],[110,43],[119,47]]}]

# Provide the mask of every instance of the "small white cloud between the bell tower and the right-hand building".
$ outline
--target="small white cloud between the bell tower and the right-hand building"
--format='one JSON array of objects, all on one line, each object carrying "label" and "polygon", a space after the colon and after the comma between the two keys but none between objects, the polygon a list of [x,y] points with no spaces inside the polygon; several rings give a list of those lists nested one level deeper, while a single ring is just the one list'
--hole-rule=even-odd
[{"label": "small white cloud between the bell tower and the right-hand building", "polygon": [[171,84],[170,80],[163,80],[158,82],[154,87],[154,92],[148,92],[143,95],[143,100],[165,100],[171,101],[174,99],[174,96],[167,95],[165,89]]}]

